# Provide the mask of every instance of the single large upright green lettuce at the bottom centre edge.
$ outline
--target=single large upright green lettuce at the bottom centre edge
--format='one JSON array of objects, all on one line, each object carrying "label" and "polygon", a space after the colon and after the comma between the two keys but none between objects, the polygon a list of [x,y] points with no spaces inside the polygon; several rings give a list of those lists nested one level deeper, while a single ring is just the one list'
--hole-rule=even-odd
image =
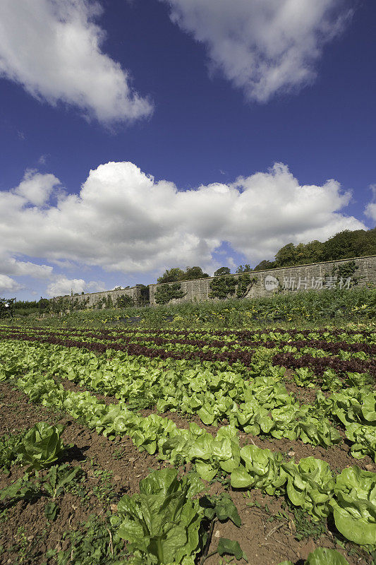
[{"label": "single large upright green lettuce at the bottom centre edge", "polygon": [[140,481],[140,494],[121,498],[113,523],[133,552],[132,563],[194,564],[203,513],[191,497],[202,488],[195,477],[178,480],[176,470],[164,469]]}]

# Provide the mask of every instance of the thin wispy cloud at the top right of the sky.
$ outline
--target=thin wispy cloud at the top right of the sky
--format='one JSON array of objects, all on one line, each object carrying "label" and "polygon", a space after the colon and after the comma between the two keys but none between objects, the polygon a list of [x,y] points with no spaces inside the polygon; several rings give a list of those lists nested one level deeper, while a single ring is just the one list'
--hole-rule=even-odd
[{"label": "thin wispy cloud at the top right of the sky", "polygon": [[342,0],[161,1],[206,45],[211,68],[259,102],[311,83],[322,48],[351,15]]}]

